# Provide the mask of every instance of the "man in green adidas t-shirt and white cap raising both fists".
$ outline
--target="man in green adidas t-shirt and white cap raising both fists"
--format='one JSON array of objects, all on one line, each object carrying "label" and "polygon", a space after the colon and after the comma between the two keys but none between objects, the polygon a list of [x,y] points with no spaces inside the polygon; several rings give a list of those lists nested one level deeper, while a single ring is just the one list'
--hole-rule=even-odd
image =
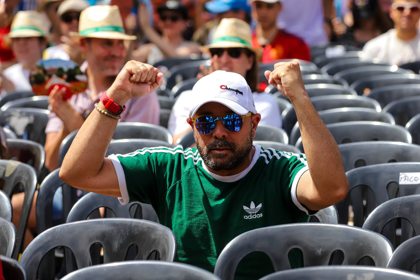
[{"label": "man in green adidas t-shirt and white cap raising both fists", "polygon": [[[157,72],[129,61],[109,97],[122,105],[148,94],[162,84]],[[220,252],[239,234],[307,222],[308,214],[341,201],[349,188],[339,148],[305,91],[299,63],[277,63],[265,77],[291,100],[307,156],[252,144],[261,117],[251,89],[237,73],[214,71],[192,89],[196,98],[186,122],[197,147],[145,148],[104,158],[117,121],[101,102],[72,142],[60,178],[121,197],[123,204],[152,204],[176,235],[175,260],[213,271]],[[298,264],[299,256],[291,256],[291,266]],[[269,266],[260,255],[247,256],[236,275],[259,279]]]}]

